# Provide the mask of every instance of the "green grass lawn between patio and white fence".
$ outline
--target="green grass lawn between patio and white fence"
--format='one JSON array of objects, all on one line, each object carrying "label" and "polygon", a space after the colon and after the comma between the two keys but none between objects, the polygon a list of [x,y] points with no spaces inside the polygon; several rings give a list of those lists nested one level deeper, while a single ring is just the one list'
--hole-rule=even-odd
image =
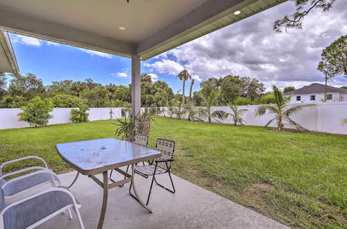
[{"label": "green grass lawn between patio and white fence", "polygon": [[[57,173],[71,171],[55,144],[113,137],[111,122],[0,130],[0,161],[38,155]],[[153,126],[149,146],[158,137],[176,141],[177,176],[287,226],[347,227],[346,135],[275,133],[163,117]]]}]

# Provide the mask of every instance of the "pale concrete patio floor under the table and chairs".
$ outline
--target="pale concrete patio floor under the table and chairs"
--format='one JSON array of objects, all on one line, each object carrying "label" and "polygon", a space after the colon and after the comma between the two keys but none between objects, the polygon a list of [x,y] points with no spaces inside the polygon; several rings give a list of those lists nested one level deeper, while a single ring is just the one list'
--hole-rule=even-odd
[{"label": "pale concrete patio floor under the table and chairs", "polygon": [[[62,185],[69,185],[75,175],[76,172],[60,174]],[[117,174],[117,178],[122,176]],[[138,175],[135,179],[139,194],[146,200],[151,180]],[[173,180],[176,194],[154,183],[149,202],[153,214],[128,194],[130,184],[110,189],[103,228],[287,228],[187,180],[177,176],[173,176]],[[168,184],[167,174],[158,176],[158,181]],[[82,205],[85,228],[96,228],[103,189],[91,178],[80,176],[71,192]],[[38,228],[79,228],[79,225],[76,214],[72,220],[67,214],[59,214]]]}]

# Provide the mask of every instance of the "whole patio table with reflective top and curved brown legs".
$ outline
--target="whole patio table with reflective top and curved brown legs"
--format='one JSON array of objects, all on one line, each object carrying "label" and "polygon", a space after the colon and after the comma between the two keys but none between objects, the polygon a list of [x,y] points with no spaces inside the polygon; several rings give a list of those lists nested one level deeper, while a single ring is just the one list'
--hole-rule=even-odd
[{"label": "whole patio table with reflective top and curved brown legs", "polygon": [[[78,174],[81,173],[92,178],[92,180],[103,188],[103,205],[101,207],[100,219],[97,226],[98,229],[103,227],[108,203],[108,189],[119,187],[125,183],[133,184],[130,187],[133,187],[135,196],[132,194],[131,196],[136,198],[137,201],[146,208],[146,210],[152,212],[151,208],[145,205],[137,194],[134,181],[134,168],[135,164],[138,162],[160,158],[160,151],[115,138],[56,144],[56,149],[62,160],[78,171],[76,178],[71,185],[75,183]],[[126,165],[131,165],[131,174],[119,169],[119,167]],[[117,182],[108,178],[108,171],[112,169],[123,174],[126,178]],[[99,180],[99,178],[94,176],[98,173],[103,174],[103,180]],[[109,179],[113,183],[108,184]],[[69,187],[71,187],[71,185]]]}]

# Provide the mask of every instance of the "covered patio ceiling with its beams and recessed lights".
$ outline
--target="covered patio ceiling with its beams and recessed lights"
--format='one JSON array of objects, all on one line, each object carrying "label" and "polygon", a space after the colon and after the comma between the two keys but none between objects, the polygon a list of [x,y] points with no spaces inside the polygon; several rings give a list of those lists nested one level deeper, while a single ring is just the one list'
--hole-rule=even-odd
[{"label": "covered patio ceiling with its beams and recessed lights", "polygon": [[0,0],[0,29],[147,60],[285,1]]}]

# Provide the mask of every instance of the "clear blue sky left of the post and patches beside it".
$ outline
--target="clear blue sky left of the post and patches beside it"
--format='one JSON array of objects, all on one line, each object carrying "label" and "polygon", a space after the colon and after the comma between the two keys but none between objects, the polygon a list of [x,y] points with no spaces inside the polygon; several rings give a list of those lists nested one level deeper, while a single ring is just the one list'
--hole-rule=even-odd
[{"label": "clear blue sky left of the post and patches beside it", "polygon": [[[85,80],[85,78],[92,78],[103,85],[108,83],[128,85],[131,82],[129,58],[22,35],[10,34],[10,39],[21,74],[33,73],[42,78],[44,85],[56,80]],[[144,64],[151,64],[155,60],[153,58],[142,62],[142,72],[150,73],[149,68]],[[181,89],[182,81],[175,76],[159,75],[160,80],[169,83],[174,92]],[[153,72],[151,72],[151,76],[153,80],[159,78],[158,74]],[[195,90],[198,88],[197,83]]]}]

